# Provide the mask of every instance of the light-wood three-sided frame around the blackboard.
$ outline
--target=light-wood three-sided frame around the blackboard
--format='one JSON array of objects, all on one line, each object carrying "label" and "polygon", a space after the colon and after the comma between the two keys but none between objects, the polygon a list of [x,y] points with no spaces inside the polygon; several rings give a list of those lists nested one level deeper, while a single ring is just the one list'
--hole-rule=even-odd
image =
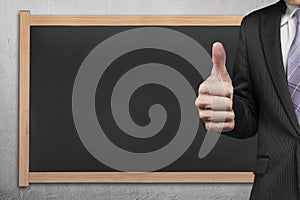
[{"label": "light-wood three-sided frame around the blackboard", "polygon": [[252,183],[252,172],[30,172],[30,26],[240,25],[242,16],[31,16],[20,12],[19,186],[29,183]]}]

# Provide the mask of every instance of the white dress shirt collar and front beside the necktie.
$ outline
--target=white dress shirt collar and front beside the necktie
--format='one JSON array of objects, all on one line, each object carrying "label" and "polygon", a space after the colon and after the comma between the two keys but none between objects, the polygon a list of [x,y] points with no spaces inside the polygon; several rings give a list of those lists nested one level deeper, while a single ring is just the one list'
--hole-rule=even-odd
[{"label": "white dress shirt collar and front beside the necktie", "polygon": [[295,12],[299,9],[298,6],[290,4],[286,4],[286,6],[286,11],[282,15],[280,23],[281,51],[285,71],[287,68],[289,49],[297,31],[297,17],[295,16]]}]

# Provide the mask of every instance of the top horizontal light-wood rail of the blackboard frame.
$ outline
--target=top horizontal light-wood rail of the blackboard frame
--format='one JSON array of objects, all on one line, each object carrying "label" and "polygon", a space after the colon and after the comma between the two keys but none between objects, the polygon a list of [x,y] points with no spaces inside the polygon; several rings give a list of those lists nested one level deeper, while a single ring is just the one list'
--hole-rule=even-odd
[{"label": "top horizontal light-wood rail of the blackboard frame", "polygon": [[31,16],[32,26],[228,26],[240,25],[242,16]]}]

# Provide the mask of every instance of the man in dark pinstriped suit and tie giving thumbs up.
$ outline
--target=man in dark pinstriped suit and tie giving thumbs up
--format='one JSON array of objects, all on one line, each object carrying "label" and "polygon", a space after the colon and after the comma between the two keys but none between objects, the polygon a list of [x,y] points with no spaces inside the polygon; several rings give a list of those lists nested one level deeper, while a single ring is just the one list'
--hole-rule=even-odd
[{"label": "man in dark pinstriped suit and tie giving thumbs up", "polygon": [[280,0],[244,17],[228,74],[221,43],[195,105],[207,130],[258,134],[252,200],[300,199],[300,0]]}]

